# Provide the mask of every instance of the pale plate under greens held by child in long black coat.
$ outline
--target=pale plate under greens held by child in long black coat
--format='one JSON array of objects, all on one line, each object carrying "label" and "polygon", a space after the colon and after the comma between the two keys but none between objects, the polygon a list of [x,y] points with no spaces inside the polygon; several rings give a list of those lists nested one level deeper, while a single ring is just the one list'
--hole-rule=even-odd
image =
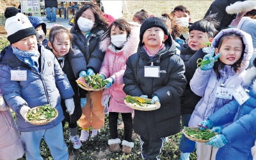
[{"label": "pale plate under greens held by child in long black coat", "polygon": [[[136,97],[134,97],[134,98],[136,98]],[[146,98],[141,98],[141,99],[146,99]],[[151,99],[147,99],[147,100],[151,100]],[[153,111],[153,110],[159,109],[161,107],[161,104],[159,102],[155,102],[155,104],[143,104],[143,106],[140,106],[136,103],[127,102],[126,100],[124,100],[124,103],[129,108],[140,110],[140,111]]]}]

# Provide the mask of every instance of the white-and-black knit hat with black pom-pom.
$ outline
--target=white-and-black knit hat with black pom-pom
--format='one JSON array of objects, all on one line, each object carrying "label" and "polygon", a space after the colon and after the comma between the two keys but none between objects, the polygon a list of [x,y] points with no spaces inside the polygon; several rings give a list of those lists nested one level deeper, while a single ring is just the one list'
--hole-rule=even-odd
[{"label": "white-and-black knit hat with black pom-pom", "polygon": [[7,31],[7,39],[10,44],[18,42],[27,36],[36,35],[35,28],[28,20],[28,17],[18,13],[17,8],[6,8],[4,17],[6,18],[4,29]]}]

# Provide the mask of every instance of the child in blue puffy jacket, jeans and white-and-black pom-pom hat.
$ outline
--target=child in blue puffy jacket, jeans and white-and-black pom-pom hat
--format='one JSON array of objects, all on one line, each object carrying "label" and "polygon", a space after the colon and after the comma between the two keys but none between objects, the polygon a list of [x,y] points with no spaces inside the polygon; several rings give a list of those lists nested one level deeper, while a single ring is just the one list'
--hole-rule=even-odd
[{"label": "child in blue puffy jacket, jeans and white-and-black pom-pom hat", "polygon": [[[42,159],[40,141],[44,138],[54,159],[68,159],[68,148],[63,138],[60,101],[65,99],[67,112],[74,112],[74,92],[62,72],[54,54],[37,45],[36,31],[28,17],[6,8],[5,29],[12,47],[7,49],[0,66],[1,94],[15,111],[18,129],[25,145],[26,159]],[[17,9],[16,9],[17,10]],[[58,116],[44,125],[26,122],[31,108],[50,104]],[[56,136],[58,135],[58,136]]]}]

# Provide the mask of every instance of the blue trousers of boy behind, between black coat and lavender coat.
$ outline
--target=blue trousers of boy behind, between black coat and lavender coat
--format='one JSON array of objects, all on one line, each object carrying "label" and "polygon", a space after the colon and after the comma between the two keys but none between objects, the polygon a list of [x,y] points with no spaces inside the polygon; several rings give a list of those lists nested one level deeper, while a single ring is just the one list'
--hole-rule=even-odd
[{"label": "blue trousers of boy behind, between black coat and lavender coat", "polygon": [[[186,126],[188,127],[188,122],[190,120],[191,114],[184,114],[181,116],[182,121],[182,127]],[[183,134],[180,140],[179,149],[183,153],[191,153],[195,150],[196,143],[195,141],[191,141],[188,138],[186,138]]]}]

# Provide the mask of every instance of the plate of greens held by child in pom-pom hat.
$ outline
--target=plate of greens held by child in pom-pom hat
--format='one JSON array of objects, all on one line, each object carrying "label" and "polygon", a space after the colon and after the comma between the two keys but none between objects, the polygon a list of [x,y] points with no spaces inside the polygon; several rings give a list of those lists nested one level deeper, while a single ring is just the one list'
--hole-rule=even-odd
[{"label": "plate of greens held by child in pom-pom hat", "polygon": [[52,108],[50,104],[31,108],[25,115],[26,122],[35,125],[44,125],[52,122],[57,116],[57,109]]}]

